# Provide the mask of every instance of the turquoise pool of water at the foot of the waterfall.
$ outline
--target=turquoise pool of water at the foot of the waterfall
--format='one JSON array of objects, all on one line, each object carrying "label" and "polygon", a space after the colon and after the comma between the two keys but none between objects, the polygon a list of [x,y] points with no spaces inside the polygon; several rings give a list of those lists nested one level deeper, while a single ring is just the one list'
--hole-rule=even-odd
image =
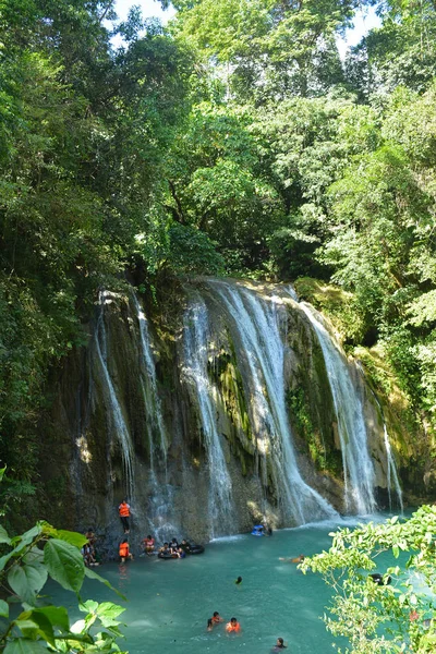
[{"label": "turquoise pool of water at the foot of the waterfall", "polygon": [[[343,526],[355,524],[344,522]],[[327,654],[331,643],[319,616],[329,602],[320,577],[304,576],[279,557],[307,556],[330,546],[332,522],[275,532],[272,537],[252,535],[222,538],[206,546],[203,555],[182,560],[136,557],[125,565],[107,564],[97,571],[122,591],[119,602],[108,589],[87,582],[84,596],[124,604],[125,641],[132,654],[201,654],[204,652],[267,654],[278,637],[289,654]],[[243,578],[237,586],[237,577]],[[56,602],[71,596],[56,593]],[[239,635],[227,635],[220,625],[206,631],[207,618],[218,610],[242,626]],[[342,643],[343,644],[343,643]]]}]

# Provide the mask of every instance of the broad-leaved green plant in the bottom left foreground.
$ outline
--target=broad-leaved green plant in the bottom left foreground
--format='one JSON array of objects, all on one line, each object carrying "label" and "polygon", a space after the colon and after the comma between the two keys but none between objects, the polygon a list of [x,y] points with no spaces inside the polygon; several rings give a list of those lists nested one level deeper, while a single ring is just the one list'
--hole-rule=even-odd
[{"label": "broad-leaved green plant in the bottom left foreground", "polygon": [[[7,552],[0,558],[4,597],[0,600],[0,649],[4,654],[120,652],[116,640],[122,634],[117,618],[124,608],[111,602],[82,602],[80,597],[85,577],[116,591],[85,567],[81,555],[85,536],[37,522],[14,537],[0,526],[0,543]],[[71,623],[65,607],[47,604],[47,597],[41,598],[48,579],[76,594],[78,608],[85,614],[83,619]],[[23,610],[11,619],[10,608],[14,603],[20,603]],[[96,632],[96,626],[102,630]]]}]

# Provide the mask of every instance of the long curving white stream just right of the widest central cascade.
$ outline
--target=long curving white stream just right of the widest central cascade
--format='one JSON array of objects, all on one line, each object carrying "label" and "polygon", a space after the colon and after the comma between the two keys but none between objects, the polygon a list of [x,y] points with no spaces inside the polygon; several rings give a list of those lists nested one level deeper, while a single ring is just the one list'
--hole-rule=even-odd
[{"label": "long curving white stream just right of the widest central cascade", "polygon": [[[289,294],[295,300],[295,295]],[[372,513],[376,509],[374,467],[367,447],[362,402],[352,383],[347,360],[326,329],[322,315],[305,302],[300,302],[299,306],[317,335],[330,382],[342,450],[347,509],[354,508],[360,514]]]}]

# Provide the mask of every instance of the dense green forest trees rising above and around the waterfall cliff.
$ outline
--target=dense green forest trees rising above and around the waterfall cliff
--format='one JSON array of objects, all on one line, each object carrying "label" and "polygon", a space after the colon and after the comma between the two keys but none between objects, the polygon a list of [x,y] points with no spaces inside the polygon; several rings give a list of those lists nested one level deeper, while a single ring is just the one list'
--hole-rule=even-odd
[{"label": "dense green forest trees rising above and around the waterfall cliff", "polygon": [[434,3],[376,3],[344,62],[354,0],[173,4],[162,28],[110,1],[0,0],[12,510],[37,483],[49,370],[126,270],[154,298],[192,274],[338,284],[347,346],[380,346],[436,427]]}]

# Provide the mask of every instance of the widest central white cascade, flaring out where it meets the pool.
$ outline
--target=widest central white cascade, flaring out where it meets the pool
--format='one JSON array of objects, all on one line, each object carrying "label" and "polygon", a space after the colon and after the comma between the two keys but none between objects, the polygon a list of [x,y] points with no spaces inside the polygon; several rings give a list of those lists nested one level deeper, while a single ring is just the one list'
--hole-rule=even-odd
[{"label": "widest central white cascade, flaring out where it meets the pool", "polygon": [[[261,455],[263,483],[270,472],[282,517],[299,524],[337,517],[335,509],[302,479],[292,445],[284,397],[284,353],[280,326],[287,323],[282,301],[262,299],[244,287],[209,280],[221,312],[232,323],[237,360],[247,367],[249,412]],[[272,465],[268,465],[268,460]]]}]

